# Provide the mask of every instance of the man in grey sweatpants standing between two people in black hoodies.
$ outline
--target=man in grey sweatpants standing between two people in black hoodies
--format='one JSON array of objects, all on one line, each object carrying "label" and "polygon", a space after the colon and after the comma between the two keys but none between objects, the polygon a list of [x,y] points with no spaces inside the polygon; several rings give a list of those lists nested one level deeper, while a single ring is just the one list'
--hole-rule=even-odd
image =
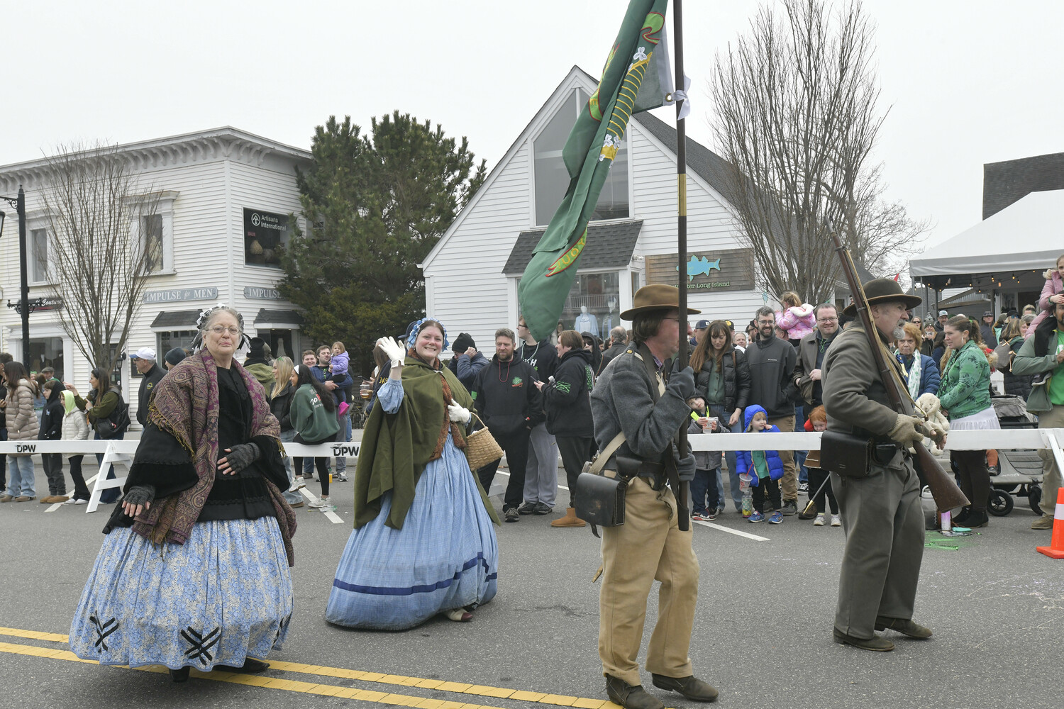
[{"label": "man in grey sweatpants standing between two people in black hoodies", "polygon": [[[549,382],[558,369],[558,351],[549,339],[536,342],[525,317],[517,320],[517,339],[522,344],[517,357],[527,361],[535,371],[536,382]],[[529,461],[525,475],[525,504],[517,511],[521,514],[550,514],[558,494],[558,448],[554,437],[547,433],[547,424],[538,423],[529,436]]]}]

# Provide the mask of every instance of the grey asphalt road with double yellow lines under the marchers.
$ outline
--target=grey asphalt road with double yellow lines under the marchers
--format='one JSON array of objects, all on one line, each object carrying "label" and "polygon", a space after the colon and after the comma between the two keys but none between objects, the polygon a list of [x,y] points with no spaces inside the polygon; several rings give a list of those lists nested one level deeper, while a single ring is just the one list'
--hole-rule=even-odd
[{"label": "grey asphalt road with double yellow lines under the marchers", "polygon": [[[37,488],[47,490],[39,462]],[[317,483],[311,488],[317,492]],[[560,491],[560,501],[565,495]],[[323,611],[350,534],[351,484],[334,484],[333,500],[342,524],[297,510],[292,630],[268,658],[275,668],[253,680],[269,687],[195,675],[176,686],[165,674],[56,652],[66,649],[65,638],[39,632],[68,632],[110,507],[86,514],[84,507],[46,512],[37,502],[0,505],[0,707],[601,706],[598,586],[591,583],[599,545],[588,529],[552,529],[553,516],[497,528],[499,593],[471,623],[343,630],[328,625]],[[697,525],[696,673],[732,707],[1059,707],[1064,561],[1035,553],[1049,533],[1030,530],[1032,519],[1017,504],[972,537],[928,533],[934,546],[925,550],[916,620],[934,637],[888,634],[893,653],[831,640],[841,528],[796,518],[754,525],[731,512],[718,519],[721,527],[767,538],[757,541]],[[655,611],[652,592],[647,638]],[[660,694],[667,706],[697,706]]]}]

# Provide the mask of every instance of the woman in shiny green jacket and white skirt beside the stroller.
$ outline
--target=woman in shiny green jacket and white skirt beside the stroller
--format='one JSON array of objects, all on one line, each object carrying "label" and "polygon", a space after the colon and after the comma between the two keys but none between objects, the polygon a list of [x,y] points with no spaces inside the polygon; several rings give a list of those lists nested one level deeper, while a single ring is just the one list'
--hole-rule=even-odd
[{"label": "woman in shiny green jacket and white skirt beside the stroller", "polygon": [[[985,431],[1000,428],[991,405],[991,366],[986,354],[975,341],[978,327],[964,316],[946,321],[946,344],[952,350],[942,372],[938,401],[949,413],[952,431]],[[976,331],[978,333],[978,331]],[[986,468],[986,451],[950,451],[957,465],[961,490],[971,505],[958,514],[954,523],[966,527],[985,527],[986,503],[991,496],[991,475]]]}]

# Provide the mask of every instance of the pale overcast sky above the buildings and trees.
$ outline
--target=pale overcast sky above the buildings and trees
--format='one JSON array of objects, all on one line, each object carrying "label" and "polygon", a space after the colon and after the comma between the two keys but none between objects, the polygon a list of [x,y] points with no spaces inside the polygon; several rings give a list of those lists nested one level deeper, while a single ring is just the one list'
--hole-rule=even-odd
[{"label": "pale overcast sky above the buildings and trees", "polygon": [[[755,0],[687,0],[691,137],[713,148],[706,79]],[[4,3],[0,165],[76,140],[233,125],[310,147],[330,114],[399,109],[494,166],[576,64],[597,75],[627,0]],[[981,219],[982,165],[1064,151],[1064,3],[868,0],[877,157],[933,244]],[[670,13],[671,15],[671,7]],[[671,18],[668,28],[671,29]],[[659,109],[672,122],[672,113]]]}]

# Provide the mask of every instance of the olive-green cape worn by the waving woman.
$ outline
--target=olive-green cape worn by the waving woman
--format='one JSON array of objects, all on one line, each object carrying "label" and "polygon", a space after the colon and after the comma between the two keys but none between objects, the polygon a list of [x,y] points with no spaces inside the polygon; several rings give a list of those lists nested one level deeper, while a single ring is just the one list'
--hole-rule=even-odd
[{"label": "olive-green cape worn by the waving woman", "polygon": [[[385,413],[378,402],[370,412],[354,472],[355,529],[381,513],[381,499],[389,490],[392,511],[384,523],[394,529],[402,529],[406,512],[414,502],[414,488],[436,450],[447,418],[444,379],[447,379],[454,401],[472,410],[472,398],[449,369],[436,370],[420,359],[406,357],[402,368],[403,400],[399,410]],[[456,428],[452,427],[452,434],[455,438],[462,437]],[[477,483],[492,521],[498,524],[499,518],[480,487],[477,475],[472,471],[469,474]]]}]

